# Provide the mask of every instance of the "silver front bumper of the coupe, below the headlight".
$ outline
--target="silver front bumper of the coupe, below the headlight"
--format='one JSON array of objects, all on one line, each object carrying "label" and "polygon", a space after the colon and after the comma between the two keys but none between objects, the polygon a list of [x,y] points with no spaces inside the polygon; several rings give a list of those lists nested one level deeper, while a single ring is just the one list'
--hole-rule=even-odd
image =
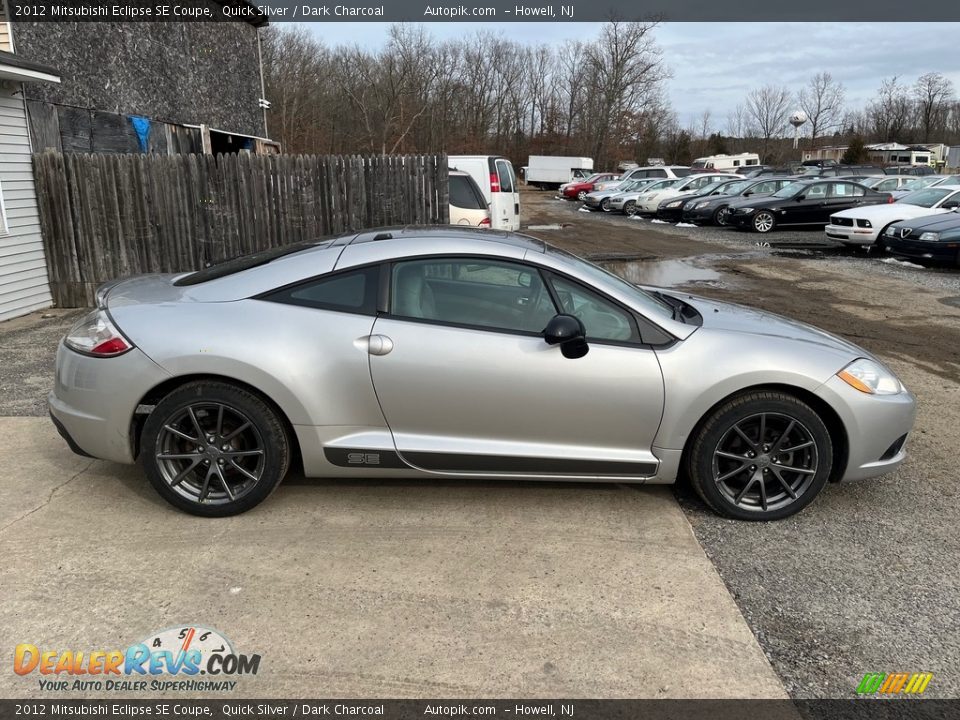
[{"label": "silver front bumper of the coupe, below the headlight", "polygon": [[903,463],[917,414],[913,393],[867,395],[834,376],[816,394],[837,412],[847,435],[847,462],[837,479],[865,480]]}]

